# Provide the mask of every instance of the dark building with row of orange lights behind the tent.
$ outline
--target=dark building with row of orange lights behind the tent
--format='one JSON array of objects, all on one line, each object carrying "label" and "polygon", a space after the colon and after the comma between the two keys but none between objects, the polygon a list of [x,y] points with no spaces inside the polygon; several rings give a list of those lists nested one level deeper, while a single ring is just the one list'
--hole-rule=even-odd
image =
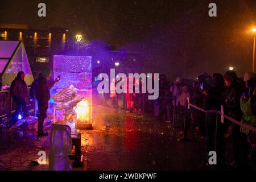
[{"label": "dark building with row of orange lights behind the tent", "polygon": [[0,24],[0,40],[19,40],[24,43],[33,75],[36,77],[44,67],[53,67],[53,55],[65,53],[67,30],[34,30],[27,24]]}]

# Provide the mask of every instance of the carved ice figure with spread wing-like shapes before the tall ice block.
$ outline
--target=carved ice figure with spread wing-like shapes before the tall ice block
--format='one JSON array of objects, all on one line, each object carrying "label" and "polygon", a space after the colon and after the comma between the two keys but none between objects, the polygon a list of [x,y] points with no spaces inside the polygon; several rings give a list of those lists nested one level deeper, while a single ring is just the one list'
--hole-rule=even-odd
[{"label": "carved ice figure with spread wing-like shapes before the tall ice block", "polygon": [[52,96],[53,101],[59,103],[54,113],[55,123],[63,123],[68,125],[72,130],[76,130],[76,111],[74,107],[83,100],[84,97],[78,95],[77,89],[71,85],[64,88],[59,94]]}]

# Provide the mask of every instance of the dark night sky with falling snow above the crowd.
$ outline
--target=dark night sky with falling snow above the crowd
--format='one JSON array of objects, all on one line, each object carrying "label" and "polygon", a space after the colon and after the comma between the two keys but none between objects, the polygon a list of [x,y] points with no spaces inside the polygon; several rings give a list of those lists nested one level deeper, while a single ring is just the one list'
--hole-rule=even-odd
[{"label": "dark night sky with falling snow above the crowd", "polygon": [[[37,16],[39,2],[47,5],[46,18]],[[211,2],[217,4],[217,18],[208,16]],[[238,75],[250,71],[253,38],[246,30],[254,20],[254,0],[1,0],[0,7],[0,23],[63,27],[82,32],[89,40],[142,51],[154,60],[154,72],[170,77],[223,73],[229,65]]]}]

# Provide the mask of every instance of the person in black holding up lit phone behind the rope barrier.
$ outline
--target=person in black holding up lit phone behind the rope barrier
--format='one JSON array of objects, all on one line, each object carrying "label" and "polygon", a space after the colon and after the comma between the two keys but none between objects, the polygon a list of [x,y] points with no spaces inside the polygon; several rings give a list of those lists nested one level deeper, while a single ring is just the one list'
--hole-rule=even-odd
[{"label": "person in black holding up lit phone behind the rope barrier", "polygon": [[[216,73],[213,77],[213,86],[206,92],[204,99],[204,110],[220,110],[221,105],[224,105],[224,77]],[[220,117],[218,117],[217,123],[217,154],[218,154],[218,164],[224,163],[225,154],[225,144],[224,144],[224,134],[225,126],[220,122]],[[214,135],[216,135],[216,114],[207,113],[206,114],[206,141],[207,141],[207,156],[210,151],[214,151]]]}]

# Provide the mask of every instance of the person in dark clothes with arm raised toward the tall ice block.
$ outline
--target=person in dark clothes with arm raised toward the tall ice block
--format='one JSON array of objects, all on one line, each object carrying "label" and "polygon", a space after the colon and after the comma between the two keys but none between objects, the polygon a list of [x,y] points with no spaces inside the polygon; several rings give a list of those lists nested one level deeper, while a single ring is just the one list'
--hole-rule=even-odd
[{"label": "person in dark clothes with arm raised toward the tall ice block", "polygon": [[59,78],[56,78],[55,81],[48,82],[49,78],[51,78],[51,71],[49,69],[44,69],[39,78],[38,87],[36,88],[36,100],[38,100],[39,110],[38,137],[48,136],[48,133],[44,133],[43,131],[43,123],[47,116],[48,101],[51,98],[49,89],[60,80]]}]

